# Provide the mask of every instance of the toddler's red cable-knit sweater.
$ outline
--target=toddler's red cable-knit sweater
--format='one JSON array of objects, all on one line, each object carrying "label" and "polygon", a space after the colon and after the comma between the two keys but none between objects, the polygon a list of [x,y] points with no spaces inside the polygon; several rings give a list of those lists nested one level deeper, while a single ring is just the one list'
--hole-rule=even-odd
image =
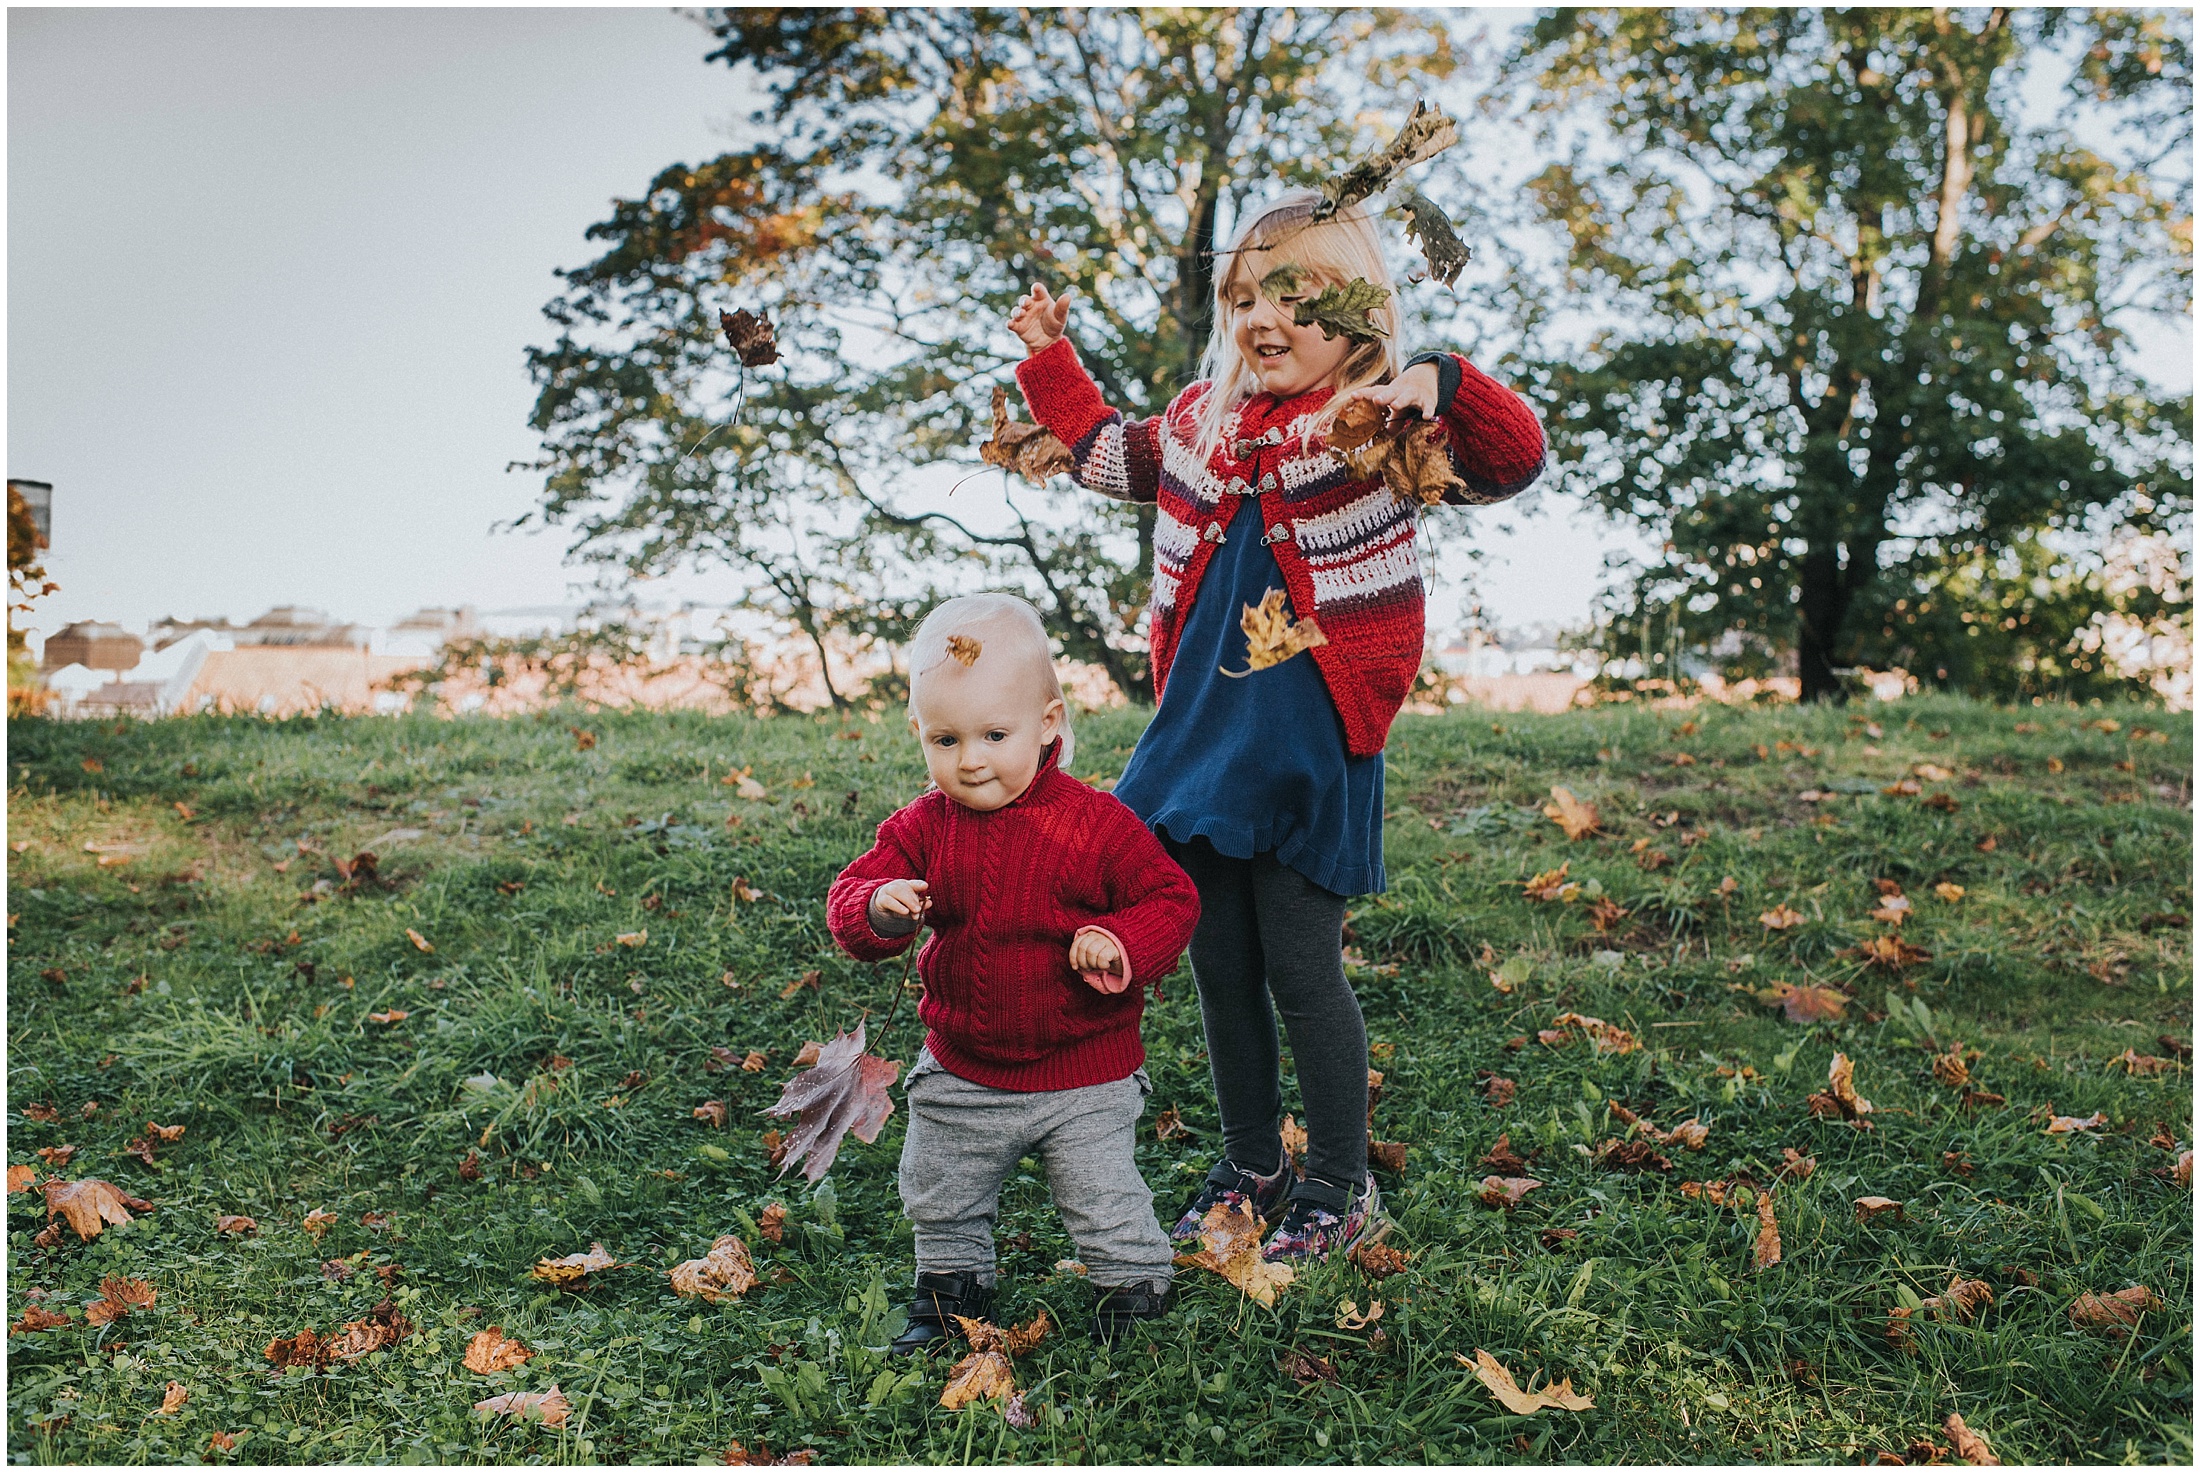
[{"label": "toddler's red cable-knit sweater", "polygon": [[[924,879],[933,939],[917,954],[931,1029],[948,1073],[1003,1090],[1113,1084],[1146,1062],[1137,1020],[1199,923],[1199,893],[1113,794],[1056,767],[1047,747],[1021,798],[990,813],[931,791],[878,827],[825,899],[834,941],[858,961],[898,956],[913,937],[871,928],[871,895]],[[1069,967],[1085,926],[1115,937],[1131,987],[1107,994]]]}]

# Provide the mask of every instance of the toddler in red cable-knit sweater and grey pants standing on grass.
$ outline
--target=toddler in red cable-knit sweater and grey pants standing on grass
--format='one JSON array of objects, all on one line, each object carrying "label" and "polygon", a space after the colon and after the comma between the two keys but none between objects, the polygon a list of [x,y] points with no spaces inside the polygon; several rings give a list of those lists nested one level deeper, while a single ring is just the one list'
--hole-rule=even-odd
[{"label": "toddler in red cable-knit sweater and grey pants standing on grass", "polygon": [[834,941],[862,961],[933,928],[900,1170],[917,1293],[893,1350],[942,1350],[955,1315],[992,1310],[1001,1183],[1027,1154],[1111,1337],[1170,1304],[1170,1242],[1131,1154],[1153,1090],[1137,1025],[1199,897],[1131,809],[1063,769],[1074,739],[1036,609],[953,598],[909,671],[935,791],[882,822],[827,899]]}]

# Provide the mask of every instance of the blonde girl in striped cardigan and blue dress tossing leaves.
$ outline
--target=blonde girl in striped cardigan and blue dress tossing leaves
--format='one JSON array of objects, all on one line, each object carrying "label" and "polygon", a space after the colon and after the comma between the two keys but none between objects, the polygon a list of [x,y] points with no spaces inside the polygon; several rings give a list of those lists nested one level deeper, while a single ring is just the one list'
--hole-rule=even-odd
[{"label": "blonde girl in striped cardigan and blue dress tossing leaves", "polygon": [[[1382,288],[1364,330],[1294,321],[1355,279]],[[1030,354],[1016,383],[1032,418],[1069,446],[1076,477],[1157,503],[1159,710],[1115,796],[1199,886],[1190,956],[1223,1126],[1221,1159],[1173,1236],[1197,1238],[1210,1207],[1245,1203],[1269,1222],[1280,1214],[1265,1255],[1289,1260],[1353,1247],[1382,1211],[1342,930],[1346,899],[1384,888],[1382,747],[1426,638],[1421,499],[1355,470],[1331,448],[1333,422],[1353,400],[1355,418],[1388,429],[1437,420],[1441,499],[1459,506],[1527,488],[1544,442],[1520,396],[1463,356],[1406,361],[1397,288],[1362,207],[1324,215],[1318,193],[1285,196],[1236,233],[1214,295],[1201,380],[1151,420],[1102,402],[1065,336],[1067,295],[1032,286],[1008,325]],[[1300,1181],[1280,1137],[1276,1014],[1307,1115]]]}]

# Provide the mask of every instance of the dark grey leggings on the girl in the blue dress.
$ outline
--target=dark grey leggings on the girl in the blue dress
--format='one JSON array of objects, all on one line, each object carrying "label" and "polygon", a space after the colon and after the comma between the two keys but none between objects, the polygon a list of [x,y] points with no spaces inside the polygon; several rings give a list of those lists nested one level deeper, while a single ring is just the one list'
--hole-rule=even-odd
[{"label": "dark grey leggings on the girl in the blue dress", "polygon": [[1192,981],[1223,1154],[1261,1174],[1283,1159],[1283,1014],[1307,1106],[1307,1185],[1316,1187],[1311,1196],[1340,1196],[1368,1170],[1368,1033],[1344,981],[1344,897],[1278,864],[1274,853],[1232,860],[1206,840],[1164,842],[1199,886]]}]

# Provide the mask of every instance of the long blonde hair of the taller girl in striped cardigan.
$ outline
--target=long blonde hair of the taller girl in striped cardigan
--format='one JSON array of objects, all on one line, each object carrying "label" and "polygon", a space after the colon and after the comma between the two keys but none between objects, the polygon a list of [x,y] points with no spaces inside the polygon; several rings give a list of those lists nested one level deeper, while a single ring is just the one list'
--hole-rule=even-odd
[{"label": "long blonde hair of the taller girl in striped cardigan", "polygon": [[[1382,237],[1375,233],[1375,218],[1364,204],[1316,220],[1313,209],[1322,202],[1318,189],[1291,189],[1274,204],[1250,215],[1239,226],[1230,251],[1214,273],[1214,332],[1208,334],[1208,352],[1199,358],[1199,376],[1208,380],[1208,396],[1199,402],[1192,420],[1195,446],[1201,464],[1214,455],[1223,442],[1223,429],[1236,407],[1252,398],[1254,374],[1245,354],[1236,345],[1236,325],[1230,312],[1230,295],[1236,286],[1261,290],[1261,279],[1278,266],[1296,266],[1309,292],[1324,286],[1344,286],[1353,277],[1379,286],[1386,292],[1384,306],[1368,312],[1382,336],[1373,343],[1353,343],[1344,363],[1338,365],[1335,389],[1360,389],[1397,378],[1406,367],[1406,352],[1399,347],[1397,281],[1382,257]],[[1331,398],[1331,405],[1335,398]],[[1320,424],[1327,427],[1327,411]]]}]

